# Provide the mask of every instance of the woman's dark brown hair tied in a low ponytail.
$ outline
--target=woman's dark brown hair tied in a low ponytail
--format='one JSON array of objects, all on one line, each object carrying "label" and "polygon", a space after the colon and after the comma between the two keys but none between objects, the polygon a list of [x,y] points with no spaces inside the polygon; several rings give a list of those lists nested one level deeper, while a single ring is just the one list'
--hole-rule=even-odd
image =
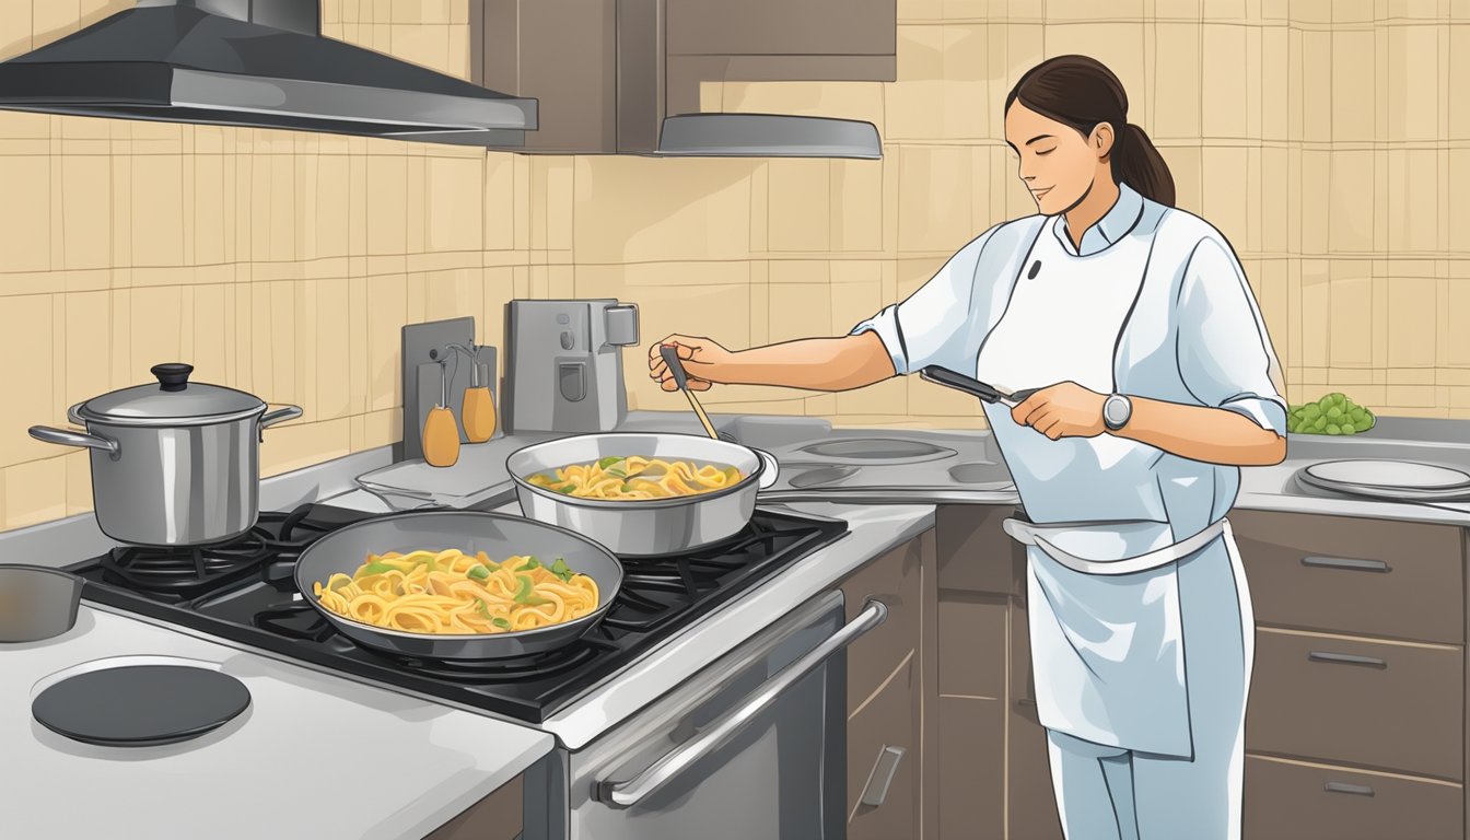
[{"label": "woman's dark brown hair tied in a low ponytail", "polygon": [[1127,121],[1127,93],[1113,71],[1088,56],[1047,59],[1020,76],[1005,110],[1020,100],[1036,113],[1072,127],[1083,137],[1105,122],[1113,127],[1113,179],[1145,199],[1175,206],[1175,178],[1142,128]]}]

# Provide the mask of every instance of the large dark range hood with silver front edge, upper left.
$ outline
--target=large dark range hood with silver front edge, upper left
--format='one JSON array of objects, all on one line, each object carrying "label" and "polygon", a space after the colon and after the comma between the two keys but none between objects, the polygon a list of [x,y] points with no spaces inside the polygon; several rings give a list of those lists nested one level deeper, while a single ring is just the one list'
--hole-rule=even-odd
[{"label": "large dark range hood with silver front edge, upper left", "polygon": [[319,0],[140,0],[0,62],[0,109],[519,146],[537,100],[320,35]]}]

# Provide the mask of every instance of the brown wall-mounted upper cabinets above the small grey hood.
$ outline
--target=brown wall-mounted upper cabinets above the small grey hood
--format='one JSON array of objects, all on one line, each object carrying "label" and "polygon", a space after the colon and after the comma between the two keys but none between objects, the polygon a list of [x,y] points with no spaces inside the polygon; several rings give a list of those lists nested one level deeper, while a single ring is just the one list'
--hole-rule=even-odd
[{"label": "brown wall-mounted upper cabinets above the small grey hood", "polygon": [[538,100],[522,152],[648,153],[722,81],[892,81],[895,0],[470,0],[470,78]]}]

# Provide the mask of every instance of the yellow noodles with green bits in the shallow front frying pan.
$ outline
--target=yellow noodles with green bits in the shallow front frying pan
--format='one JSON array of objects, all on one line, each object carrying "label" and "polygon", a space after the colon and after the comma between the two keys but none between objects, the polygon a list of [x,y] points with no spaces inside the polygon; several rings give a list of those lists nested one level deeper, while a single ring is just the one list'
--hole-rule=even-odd
[{"label": "yellow noodles with green bits in the shallow front frying pan", "polygon": [[350,577],[331,575],[313,591],[343,618],[388,630],[429,634],[488,634],[535,630],[597,609],[597,581],[557,558],[495,563],[485,552],[459,549],[369,555]]}]

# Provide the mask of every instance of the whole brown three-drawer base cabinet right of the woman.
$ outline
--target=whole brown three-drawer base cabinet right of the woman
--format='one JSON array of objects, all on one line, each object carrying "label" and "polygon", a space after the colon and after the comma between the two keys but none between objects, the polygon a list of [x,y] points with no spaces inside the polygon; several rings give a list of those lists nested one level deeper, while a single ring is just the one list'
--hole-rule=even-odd
[{"label": "whole brown three-drawer base cabinet right of the woman", "polygon": [[1245,837],[1463,837],[1464,531],[1267,510],[1230,525],[1257,627]]}]

